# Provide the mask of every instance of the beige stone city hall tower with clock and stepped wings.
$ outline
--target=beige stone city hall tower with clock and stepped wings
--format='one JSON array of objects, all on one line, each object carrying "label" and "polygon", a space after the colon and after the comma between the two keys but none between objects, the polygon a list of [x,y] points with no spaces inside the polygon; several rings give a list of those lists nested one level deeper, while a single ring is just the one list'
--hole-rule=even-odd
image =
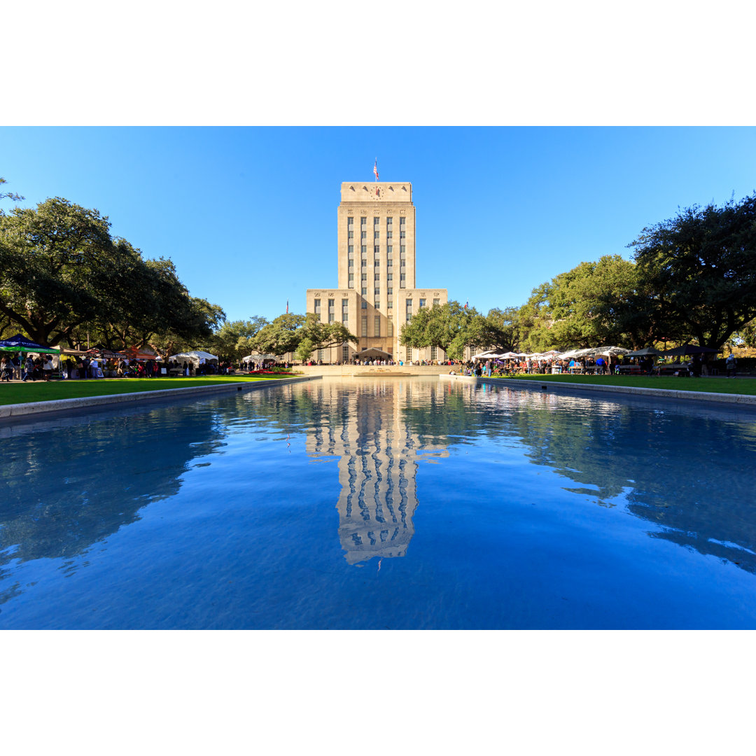
[{"label": "beige stone city hall tower with clock and stepped wings", "polygon": [[417,288],[415,206],[407,181],[345,181],[337,214],[337,286],[308,289],[307,312],[324,323],[340,321],[359,345],[319,349],[313,359],[345,363],[364,349],[381,349],[395,361],[445,359],[435,347],[407,349],[401,327],[420,308],[447,302],[447,290]]}]

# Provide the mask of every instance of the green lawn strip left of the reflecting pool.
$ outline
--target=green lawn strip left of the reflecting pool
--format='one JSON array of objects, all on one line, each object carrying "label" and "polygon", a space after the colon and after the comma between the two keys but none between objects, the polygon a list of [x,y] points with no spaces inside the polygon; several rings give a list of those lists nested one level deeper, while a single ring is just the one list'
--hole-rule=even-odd
[{"label": "green lawn strip left of the reflecting pool", "polygon": [[207,376],[199,378],[102,378],[98,380],[51,380],[45,382],[0,384],[0,404],[23,404],[27,401],[52,401],[83,396],[131,394],[160,389],[188,389],[191,386],[212,386],[215,383],[270,381],[290,376]]}]

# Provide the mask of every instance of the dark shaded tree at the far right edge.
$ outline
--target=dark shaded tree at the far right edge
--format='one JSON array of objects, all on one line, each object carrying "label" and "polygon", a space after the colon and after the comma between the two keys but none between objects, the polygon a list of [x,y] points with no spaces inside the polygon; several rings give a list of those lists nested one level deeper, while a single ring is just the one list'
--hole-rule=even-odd
[{"label": "dark shaded tree at the far right edge", "polygon": [[666,316],[718,349],[756,316],[756,193],[692,206],[630,245]]}]

